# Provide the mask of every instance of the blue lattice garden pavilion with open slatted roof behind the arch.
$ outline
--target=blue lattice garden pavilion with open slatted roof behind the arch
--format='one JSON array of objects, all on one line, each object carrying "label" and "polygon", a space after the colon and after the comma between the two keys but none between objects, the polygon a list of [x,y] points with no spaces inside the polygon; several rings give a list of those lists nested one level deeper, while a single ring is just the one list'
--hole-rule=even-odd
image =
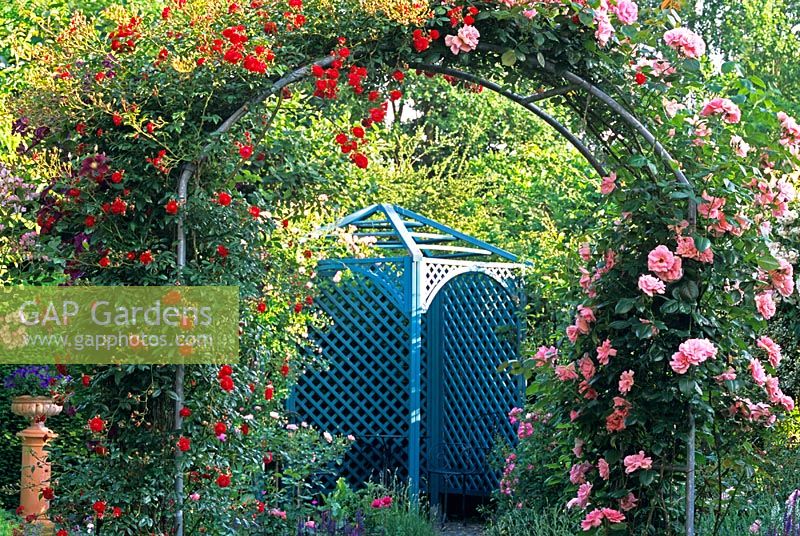
[{"label": "blue lattice garden pavilion with open slatted roof behind the arch", "polygon": [[330,367],[300,379],[289,409],[356,437],[343,464],[354,485],[390,469],[434,502],[443,486],[487,495],[498,474],[486,456],[514,441],[506,414],[522,399],[520,378],[498,370],[519,355],[517,257],[388,204],[326,228],[337,229],[377,253],[320,264],[331,324],[312,339]]}]

